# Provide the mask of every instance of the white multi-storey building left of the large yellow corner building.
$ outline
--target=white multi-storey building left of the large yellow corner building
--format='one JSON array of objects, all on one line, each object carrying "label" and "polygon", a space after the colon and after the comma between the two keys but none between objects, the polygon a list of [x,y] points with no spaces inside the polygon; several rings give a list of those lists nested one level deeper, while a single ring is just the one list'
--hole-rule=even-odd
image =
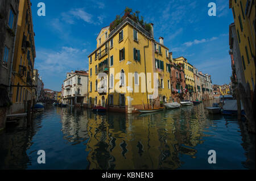
[{"label": "white multi-storey building left of the large yellow corner building", "polygon": [[63,83],[63,104],[75,106],[87,103],[88,98],[88,73],[83,70],[76,70],[67,73]]}]

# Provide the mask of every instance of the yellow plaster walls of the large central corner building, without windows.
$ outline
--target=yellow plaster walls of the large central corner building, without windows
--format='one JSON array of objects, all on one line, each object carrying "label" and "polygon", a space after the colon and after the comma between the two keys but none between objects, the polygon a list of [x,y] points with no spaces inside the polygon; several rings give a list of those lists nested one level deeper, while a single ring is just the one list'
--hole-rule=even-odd
[{"label": "yellow plaster walls of the large central corner building, without windows", "polygon": [[[99,102],[99,100],[101,100],[103,95],[99,95],[97,91],[95,91],[95,82],[96,82],[96,72],[95,72],[95,66],[101,62],[104,61],[106,58],[109,58],[109,62],[110,62],[110,57],[113,56],[114,58],[114,65],[112,67],[110,67],[110,72],[109,75],[113,74],[115,76],[115,74],[120,73],[121,70],[123,69],[125,71],[125,76],[126,76],[126,80],[125,80],[125,86],[129,86],[128,85],[128,73],[134,73],[135,71],[137,71],[138,74],[140,73],[144,73],[145,72],[145,66],[144,66],[144,46],[147,46],[147,48],[145,48],[145,56],[146,56],[146,72],[147,73],[151,73],[151,80],[147,79],[147,82],[149,83],[149,81],[151,81],[151,87],[153,88],[153,73],[154,72],[158,72],[161,73],[161,75],[159,74],[159,78],[160,76],[162,76],[163,81],[164,81],[164,89],[159,89],[159,95],[162,96],[166,96],[166,100],[168,102],[170,96],[171,96],[171,90],[168,89],[168,85],[167,85],[167,80],[170,80],[170,73],[167,73],[166,70],[166,63],[170,63],[168,58],[166,58],[166,49],[165,47],[162,46],[162,55],[160,54],[156,54],[155,50],[154,50],[154,41],[151,41],[149,39],[147,39],[147,37],[143,36],[141,32],[138,31],[138,41],[134,41],[133,38],[133,27],[129,25],[126,25],[125,27],[122,28],[123,30],[123,40],[121,42],[119,42],[119,34],[117,32],[116,35],[114,35],[113,37],[113,48],[111,48],[109,50],[109,53],[106,54],[104,57],[102,57],[100,60],[95,60],[95,53],[92,52],[92,54],[90,54],[88,56],[89,58],[89,84],[88,84],[88,90],[89,90],[89,98],[92,98],[92,104],[94,104],[94,98],[97,96],[97,103],[101,103]],[[103,30],[101,31],[100,35],[98,35],[98,37],[103,37],[103,40],[105,38],[105,32],[108,31],[108,35],[109,35],[109,30]],[[103,35],[103,36],[101,36]],[[102,40],[101,40],[102,42]],[[109,41],[107,41],[109,43]],[[105,49],[105,45],[104,43],[102,43],[99,46],[99,42],[97,41],[97,50],[98,48],[101,48],[101,50]],[[110,44],[108,45],[108,47],[110,47]],[[125,48],[125,60],[123,61],[119,61],[119,50]],[[140,50],[140,57],[141,57],[141,61],[135,61],[134,60],[134,53],[133,53],[133,48],[136,48],[138,50]],[[92,63],[90,64],[90,57],[92,57]],[[155,58],[164,61],[164,71],[160,72],[160,71],[156,71],[155,70]],[[111,72],[111,68],[114,68],[114,73]],[[90,69],[92,69],[92,76],[90,76]],[[114,81],[114,86],[117,82],[119,82],[119,77],[115,77],[117,79],[115,79]],[[134,78],[133,78],[134,81]],[[92,91],[90,91],[90,82],[92,82]],[[98,83],[100,82],[100,79],[98,79]],[[127,101],[127,96],[130,96],[133,100],[131,100],[131,105],[142,105],[142,104],[147,104],[147,94],[146,92],[141,92],[141,85],[142,83],[144,83],[145,81],[141,81],[141,79],[139,79],[139,85],[138,86],[134,86],[134,82],[133,82],[133,92],[128,92],[128,90],[126,89],[126,93],[125,93],[125,104],[126,106],[128,105],[128,101]],[[170,86],[171,87],[171,86]],[[119,88],[115,87],[115,88]],[[139,89],[139,92],[134,92],[134,89]],[[146,88],[145,88],[146,89]],[[110,95],[113,94],[114,95],[114,105],[118,106],[119,105],[119,94],[117,92],[112,92],[113,89],[110,89]],[[122,94],[122,93],[121,93]],[[108,94],[104,95],[105,96],[105,100],[108,98]],[[149,101],[148,101],[149,103]],[[147,108],[147,107],[145,107]]]}]

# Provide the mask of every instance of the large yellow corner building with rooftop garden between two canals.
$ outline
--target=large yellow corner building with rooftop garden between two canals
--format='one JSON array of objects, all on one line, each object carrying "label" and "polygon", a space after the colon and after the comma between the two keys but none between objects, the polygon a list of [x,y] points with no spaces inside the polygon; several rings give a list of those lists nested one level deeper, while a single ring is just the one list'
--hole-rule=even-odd
[{"label": "large yellow corner building with rooftop garden between two canals", "polygon": [[[162,37],[160,43],[155,41],[153,24],[148,26],[151,31],[127,16],[114,29],[102,28],[97,48],[88,56],[90,106],[131,113],[171,100],[168,48]],[[104,78],[100,73],[105,73]],[[154,73],[158,73],[155,81]],[[150,95],[156,97],[147,99]]]}]

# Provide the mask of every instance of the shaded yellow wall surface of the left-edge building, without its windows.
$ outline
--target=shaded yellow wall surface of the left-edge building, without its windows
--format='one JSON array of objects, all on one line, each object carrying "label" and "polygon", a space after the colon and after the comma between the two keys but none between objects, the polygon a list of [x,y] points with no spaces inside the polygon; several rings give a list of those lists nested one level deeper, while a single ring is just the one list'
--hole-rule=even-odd
[{"label": "shaded yellow wall surface of the left-edge building, without its windows", "polygon": [[[28,23],[26,23],[27,10],[28,10]],[[35,58],[35,43],[34,43],[34,31],[33,31],[32,18],[30,14],[31,14],[30,1],[20,0],[19,18],[18,18],[18,26],[17,26],[17,32],[16,32],[15,52],[14,52],[14,62],[13,62],[13,70],[15,71],[15,75],[12,78],[13,85],[28,86],[28,83],[27,83],[28,71],[30,73],[30,77],[32,81],[32,74],[34,69],[34,58]],[[28,33],[28,24],[30,24],[29,32],[31,33],[31,41],[30,41],[30,35]],[[24,32],[24,35],[27,36],[27,41],[30,41],[31,43],[31,47],[25,50],[22,50],[23,32]],[[28,63],[27,50],[30,50],[31,65],[29,65]],[[32,51],[34,51],[34,58],[33,58]],[[24,73],[23,76],[19,75],[19,65],[23,65],[26,67],[26,72]],[[17,106],[18,104],[23,103],[23,100],[31,100],[31,96],[32,96],[31,87],[19,87],[17,101],[16,101],[16,95],[17,95],[18,87],[13,87],[12,89],[13,89],[12,102],[14,107],[15,105]],[[20,94],[21,89],[22,89],[22,92]],[[14,111],[18,111],[18,110],[14,108]]]}]

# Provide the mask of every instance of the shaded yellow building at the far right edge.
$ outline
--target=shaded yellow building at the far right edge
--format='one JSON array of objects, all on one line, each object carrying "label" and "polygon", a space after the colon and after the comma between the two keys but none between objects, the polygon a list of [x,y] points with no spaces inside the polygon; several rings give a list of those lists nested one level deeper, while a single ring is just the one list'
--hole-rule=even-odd
[{"label": "shaded yellow building at the far right edge", "polygon": [[237,29],[245,81],[250,83],[251,93],[255,86],[255,1],[232,0],[234,24]]}]

